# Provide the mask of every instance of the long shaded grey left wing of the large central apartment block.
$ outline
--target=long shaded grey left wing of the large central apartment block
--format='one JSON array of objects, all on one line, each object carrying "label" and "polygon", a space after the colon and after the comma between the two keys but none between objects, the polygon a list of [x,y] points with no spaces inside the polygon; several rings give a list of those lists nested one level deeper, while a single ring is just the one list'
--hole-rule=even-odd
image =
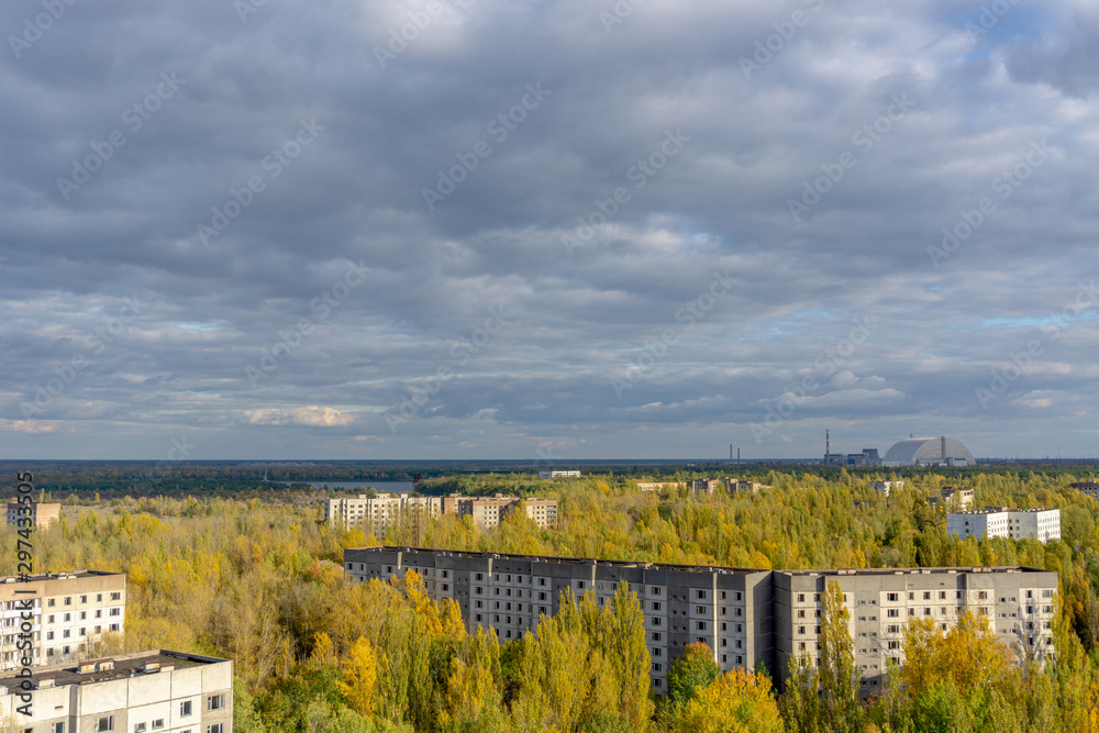
[{"label": "long shaded grey left wing of the large central apartment block", "polygon": [[771,620],[769,574],[763,570],[654,563],[569,559],[402,547],[344,551],[344,568],[365,581],[415,570],[435,600],[453,599],[467,629],[495,629],[501,642],[537,629],[553,617],[562,592],[611,602],[618,584],[637,593],[645,614],[653,687],[663,692],[671,660],[688,644],[706,642],[722,670],[769,666]]}]

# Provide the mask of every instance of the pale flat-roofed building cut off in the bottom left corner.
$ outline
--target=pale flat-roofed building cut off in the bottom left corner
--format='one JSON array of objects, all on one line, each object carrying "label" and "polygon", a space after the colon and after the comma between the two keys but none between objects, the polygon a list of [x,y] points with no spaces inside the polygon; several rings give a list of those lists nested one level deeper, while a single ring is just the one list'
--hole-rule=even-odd
[{"label": "pale flat-roofed building cut off in the bottom left corner", "polygon": [[34,733],[232,733],[233,663],[159,651],[33,667],[0,677],[0,717]]}]

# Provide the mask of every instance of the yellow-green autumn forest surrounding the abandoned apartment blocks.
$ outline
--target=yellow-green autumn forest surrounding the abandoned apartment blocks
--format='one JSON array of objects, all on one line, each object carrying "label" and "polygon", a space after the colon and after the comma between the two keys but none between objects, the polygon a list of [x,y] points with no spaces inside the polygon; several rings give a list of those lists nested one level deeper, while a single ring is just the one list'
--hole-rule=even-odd
[{"label": "yellow-green autumn forest surrounding the abandoned apartment blocks", "polygon": [[[163,480],[174,480],[173,470]],[[1090,476],[911,473],[888,499],[869,488],[890,478],[881,473],[754,478],[771,488],[657,496],[623,475],[439,477],[429,482],[447,492],[557,498],[558,522],[539,530],[513,515],[486,531],[444,515],[418,544],[776,569],[1046,568],[1061,579],[1056,655],[1045,664],[1018,658],[980,619],[946,634],[915,624],[904,642],[908,664],[890,671],[879,697],[859,701],[846,611],[830,593],[822,663],[793,665],[781,692],[762,669],[719,675],[703,647],[688,648],[669,671],[669,695],[655,698],[629,589],[604,608],[567,599],[536,633],[500,644],[493,634],[469,634],[458,609],[430,600],[414,574],[389,584],[344,580],[344,547],[407,537],[330,527],[321,522],[322,492],[255,485],[252,496],[235,485],[221,496],[214,487],[132,496],[113,486],[119,492],[109,498],[96,497],[93,480],[77,491],[51,488],[43,497],[67,506],[62,521],[34,534],[35,569],[125,573],[126,633],[89,655],[158,647],[234,659],[241,733],[1099,731],[1099,504],[1068,487]],[[947,538],[944,515],[925,497],[963,484],[977,506],[1059,508],[1063,538]],[[0,553],[0,573],[11,575],[16,535],[3,533],[12,552]]]}]

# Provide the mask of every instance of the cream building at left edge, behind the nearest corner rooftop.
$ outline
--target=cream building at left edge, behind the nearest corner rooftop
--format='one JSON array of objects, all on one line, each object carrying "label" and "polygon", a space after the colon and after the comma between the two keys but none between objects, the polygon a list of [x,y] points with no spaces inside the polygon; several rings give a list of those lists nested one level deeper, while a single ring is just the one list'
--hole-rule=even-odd
[{"label": "cream building at left edge, behind the nearest corner rooftop", "polygon": [[0,668],[15,667],[20,626],[31,613],[35,664],[73,659],[109,632],[123,632],[126,576],[122,573],[51,573],[0,578]]}]

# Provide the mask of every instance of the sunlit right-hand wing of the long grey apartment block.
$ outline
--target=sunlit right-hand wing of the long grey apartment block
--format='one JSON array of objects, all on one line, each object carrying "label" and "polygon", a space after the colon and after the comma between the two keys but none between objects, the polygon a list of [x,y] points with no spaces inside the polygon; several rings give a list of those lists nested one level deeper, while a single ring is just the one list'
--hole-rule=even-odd
[{"label": "sunlit right-hand wing of the long grey apartment block", "polygon": [[880,689],[887,665],[903,664],[904,630],[931,618],[945,631],[965,610],[986,617],[1003,644],[1042,658],[1053,652],[1057,574],[1023,567],[776,570],[775,664],[785,677],[791,655],[819,658],[821,613],[835,580],[851,613],[863,692]]}]

